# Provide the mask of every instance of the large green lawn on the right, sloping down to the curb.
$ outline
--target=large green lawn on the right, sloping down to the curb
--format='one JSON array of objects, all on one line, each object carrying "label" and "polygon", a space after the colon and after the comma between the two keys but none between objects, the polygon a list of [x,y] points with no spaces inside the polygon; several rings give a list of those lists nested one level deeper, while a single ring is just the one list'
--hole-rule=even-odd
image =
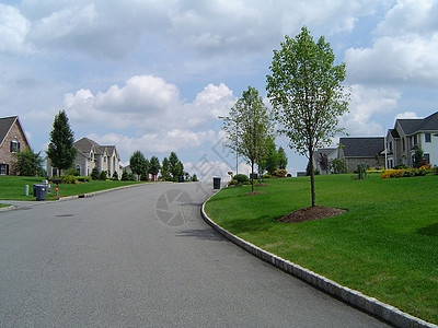
[{"label": "large green lawn on the right, sloping down to the curb", "polygon": [[438,176],[381,179],[316,176],[316,204],[343,215],[303,223],[276,219],[310,206],[308,177],[226,188],[206,204],[238,236],[343,285],[438,324]]}]

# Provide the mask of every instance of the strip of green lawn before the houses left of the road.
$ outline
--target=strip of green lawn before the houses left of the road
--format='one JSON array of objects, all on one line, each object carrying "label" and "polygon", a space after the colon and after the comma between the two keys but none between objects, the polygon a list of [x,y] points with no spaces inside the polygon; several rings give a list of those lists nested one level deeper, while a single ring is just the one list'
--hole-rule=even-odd
[{"label": "strip of green lawn before the houses left of the road", "polygon": [[[41,184],[41,177],[0,176],[0,199],[2,200],[35,200],[33,185]],[[58,197],[56,197],[55,185],[51,184],[51,192],[47,194],[46,200],[56,200],[59,197],[89,194],[99,190],[112,189],[122,186],[139,184],[136,181],[92,180],[76,185],[60,184]],[[28,196],[24,196],[24,186],[28,185]]]}]

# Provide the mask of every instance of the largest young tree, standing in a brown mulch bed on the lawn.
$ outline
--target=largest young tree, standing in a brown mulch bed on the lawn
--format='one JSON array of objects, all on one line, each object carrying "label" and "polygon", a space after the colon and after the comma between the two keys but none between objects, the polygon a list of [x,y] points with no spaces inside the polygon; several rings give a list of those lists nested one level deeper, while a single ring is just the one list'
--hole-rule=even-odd
[{"label": "largest young tree, standing in a brown mulch bed on the lawn", "polygon": [[274,50],[272,75],[267,75],[267,95],[275,115],[298,153],[310,162],[312,207],[315,206],[313,153],[343,129],[338,118],[348,110],[348,95],[342,82],[345,63],[334,65],[330,44],[315,43],[307,27],[296,38],[286,36]]}]

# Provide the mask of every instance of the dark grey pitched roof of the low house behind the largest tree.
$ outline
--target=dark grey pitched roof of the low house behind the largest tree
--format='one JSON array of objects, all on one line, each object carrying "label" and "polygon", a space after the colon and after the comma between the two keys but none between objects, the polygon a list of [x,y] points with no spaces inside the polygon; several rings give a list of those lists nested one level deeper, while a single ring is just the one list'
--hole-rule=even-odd
[{"label": "dark grey pitched roof of the low house behind the largest tree", "polygon": [[383,137],[339,138],[345,157],[374,157],[384,150]]}]

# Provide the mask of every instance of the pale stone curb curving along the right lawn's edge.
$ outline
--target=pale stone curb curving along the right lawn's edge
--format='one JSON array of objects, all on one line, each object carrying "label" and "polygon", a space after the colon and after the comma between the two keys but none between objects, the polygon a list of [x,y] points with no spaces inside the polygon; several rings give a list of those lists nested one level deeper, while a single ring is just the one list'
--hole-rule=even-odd
[{"label": "pale stone curb curving along the right lawn's edge", "polygon": [[[208,200],[207,200],[208,201]],[[206,201],[206,202],[207,202]],[[206,203],[205,202],[205,203]],[[414,317],[407,313],[400,311],[399,308],[391,306],[389,304],[382,303],[379,300],[364,295],[362,293],[351,290],[349,288],[343,286],[321,274],[318,274],[311,270],[300,267],[293,262],[285,260],[272,253],[268,253],[233,234],[223,227],[216,224],[205,212],[205,203],[200,210],[204,221],[206,221],[210,226],[218,231],[221,235],[242,247],[252,255],[263,259],[264,261],[272,263],[273,266],[284,270],[285,272],[292,274],[309,284],[324,291],[325,293],[344,301],[345,303],[360,308],[391,325],[396,327],[435,327],[437,325],[427,323],[420,318]]]}]

